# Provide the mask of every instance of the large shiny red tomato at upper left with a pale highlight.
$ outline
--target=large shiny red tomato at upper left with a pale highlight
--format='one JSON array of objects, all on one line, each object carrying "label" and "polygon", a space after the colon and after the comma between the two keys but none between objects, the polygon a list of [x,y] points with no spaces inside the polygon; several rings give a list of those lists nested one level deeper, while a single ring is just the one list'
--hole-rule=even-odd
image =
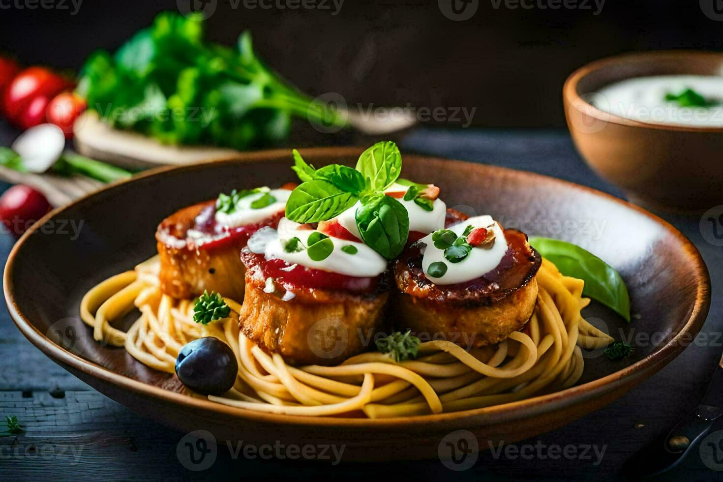
[{"label": "large shiny red tomato at upper left with a pale highlight", "polygon": [[73,87],[73,82],[44,67],[29,67],[12,79],[5,90],[4,110],[8,120],[19,125],[20,116],[33,99],[54,98]]}]

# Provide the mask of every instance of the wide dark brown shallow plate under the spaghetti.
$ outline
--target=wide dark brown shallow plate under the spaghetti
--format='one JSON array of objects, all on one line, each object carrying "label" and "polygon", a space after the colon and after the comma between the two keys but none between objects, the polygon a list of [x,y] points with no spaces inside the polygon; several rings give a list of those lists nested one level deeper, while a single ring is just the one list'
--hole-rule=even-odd
[{"label": "wide dark brown shallow plate under the spaghetti", "polygon": [[[359,152],[330,148],[302,154],[319,166],[353,164]],[[122,348],[93,341],[78,319],[83,293],[153,255],[159,221],[219,191],[293,181],[290,163],[290,152],[270,151],[163,168],[51,212],[20,239],[5,267],[5,297],[17,327],[84,382],[177,429],[206,429],[218,440],[256,444],[335,442],[346,444],[345,460],[383,460],[434,457],[442,437],[459,429],[474,432],[479,440],[514,442],[569,423],[612,402],[675,358],[708,312],[709,277],[698,251],[649,212],[554,178],[406,155],[403,176],[434,181],[449,207],[489,213],[529,234],[573,241],[616,267],[628,283],[633,324],[626,326],[595,304],[586,316],[607,325],[618,340],[634,329],[655,335],[651,342],[638,343],[625,361],[591,353],[580,384],[562,392],[479,410],[367,420],[254,413],[188,397],[179,393],[175,376],[148,369]],[[75,226],[82,221],[77,238],[69,220]]]}]

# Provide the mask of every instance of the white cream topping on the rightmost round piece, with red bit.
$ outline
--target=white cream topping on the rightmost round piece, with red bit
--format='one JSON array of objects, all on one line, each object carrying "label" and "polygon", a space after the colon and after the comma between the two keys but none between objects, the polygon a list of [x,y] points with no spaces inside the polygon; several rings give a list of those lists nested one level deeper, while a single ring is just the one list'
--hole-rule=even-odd
[{"label": "white cream topping on the rightmost round piece, with red bit", "polygon": [[[422,270],[424,270],[424,276],[432,281],[432,283],[437,285],[465,283],[466,281],[471,281],[482,275],[486,275],[488,272],[494,270],[500,264],[500,261],[502,261],[502,257],[505,256],[508,248],[507,239],[505,238],[504,231],[502,231],[499,224],[495,223],[492,216],[484,215],[469,218],[461,223],[450,226],[449,229],[454,231],[457,236],[461,236],[465,228],[469,225],[475,228],[492,229],[495,233],[495,244],[493,244],[490,249],[472,248],[469,255],[458,263],[449,262],[445,258],[445,251],[435,247],[431,234],[419,240],[419,242],[426,245],[422,249],[422,254],[424,254],[424,257],[422,257]],[[490,225],[492,225],[491,228]],[[447,265],[447,272],[441,277],[432,277],[427,274],[429,264],[435,262],[443,262]]]}]

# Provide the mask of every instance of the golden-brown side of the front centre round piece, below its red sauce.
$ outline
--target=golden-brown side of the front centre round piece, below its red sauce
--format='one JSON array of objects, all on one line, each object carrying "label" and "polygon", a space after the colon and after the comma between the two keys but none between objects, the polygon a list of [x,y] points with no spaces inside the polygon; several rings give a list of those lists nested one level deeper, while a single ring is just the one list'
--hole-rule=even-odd
[{"label": "golden-brown side of the front centre round piece, below its red sauce", "polygon": [[292,365],[337,365],[369,349],[384,318],[389,293],[376,296],[314,290],[316,298],[266,293],[265,283],[247,273],[239,314],[243,334]]}]

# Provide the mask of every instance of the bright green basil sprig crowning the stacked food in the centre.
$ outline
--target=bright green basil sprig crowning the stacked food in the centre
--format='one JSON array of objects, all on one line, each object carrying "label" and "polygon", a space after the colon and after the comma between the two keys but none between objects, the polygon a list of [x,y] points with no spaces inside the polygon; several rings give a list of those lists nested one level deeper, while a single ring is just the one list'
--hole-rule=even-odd
[{"label": "bright green basil sprig crowning the stacked food in the centre", "polygon": [[[362,152],[356,169],[326,165],[315,169],[294,150],[294,171],[302,183],[286,202],[286,218],[296,223],[330,220],[361,201],[356,227],[364,244],[386,259],[397,257],[409,234],[406,208],[384,190],[397,181],[401,154],[394,142],[377,142]],[[408,182],[408,181],[406,181]]]}]

